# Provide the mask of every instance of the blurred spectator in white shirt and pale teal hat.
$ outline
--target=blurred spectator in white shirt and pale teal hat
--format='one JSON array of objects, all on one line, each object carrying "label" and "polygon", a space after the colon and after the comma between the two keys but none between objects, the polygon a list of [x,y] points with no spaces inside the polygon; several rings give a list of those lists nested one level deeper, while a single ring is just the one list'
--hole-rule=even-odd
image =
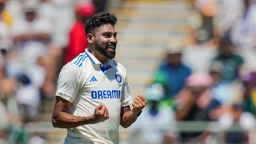
[{"label": "blurred spectator in white shirt and pale teal hat", "polygon": [[165,89],[160,83],[152,83],[146,89],[148,101],[143,114],[131,125],[132,144],[176,144],[178,132],[175,115],[169,105],[161,104]]}]

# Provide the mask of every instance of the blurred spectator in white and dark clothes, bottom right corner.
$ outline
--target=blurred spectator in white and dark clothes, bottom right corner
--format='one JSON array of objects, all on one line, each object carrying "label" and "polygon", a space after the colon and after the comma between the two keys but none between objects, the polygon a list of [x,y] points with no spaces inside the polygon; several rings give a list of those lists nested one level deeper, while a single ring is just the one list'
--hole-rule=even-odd
[{"label": "blurred spectator in white and dark clothes, bottom right corner", "polygon": [[[211,111],[210,117],[217,120],[216,127],[223,132],[224,143],[226,144],[248,144],[250,141],[249,133],[256,130],[255,116],[244,111],[240,104],[221,105],[221,107]],[[238,123],[242,131],[226,131],[230,130],[234,123]]]}]

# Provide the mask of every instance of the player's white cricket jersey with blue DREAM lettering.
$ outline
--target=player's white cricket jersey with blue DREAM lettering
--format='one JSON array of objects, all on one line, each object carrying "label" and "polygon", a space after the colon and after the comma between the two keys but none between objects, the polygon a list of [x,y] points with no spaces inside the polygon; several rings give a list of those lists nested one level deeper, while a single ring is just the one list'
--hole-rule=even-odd
[{"label": "player's white cricket jersey with blue DREAM lettering", "polygon": [[121,107],[132,103],[123,65],[110,59],[102,64],[85,50],[62,68],[56,96],[72,102],[69,113],[76,116],[93,115],[99,104],[109,110],[104,122],[67,129],[64,144],[118,144]]}]

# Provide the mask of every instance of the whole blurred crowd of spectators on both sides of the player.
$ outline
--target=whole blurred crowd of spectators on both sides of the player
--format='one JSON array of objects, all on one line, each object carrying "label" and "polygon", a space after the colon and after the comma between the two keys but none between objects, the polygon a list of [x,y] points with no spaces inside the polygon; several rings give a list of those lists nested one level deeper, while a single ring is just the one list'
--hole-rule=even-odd
[{"label": "whole blurred crowd of spectators on both sides of the player", "polygon": [[[191,1],[195,11],[187,17],[189,39],[186,44],[166,42],[166,57],[145,91],[149,103],[129,128],[133,144],[252,143],[256,0]],[[106,4],[0,0],[0,144],[28,144],[24,125],[39,120],[43,99],[54,98],[62,65],[87,46],[84,22],[104,12]],[[215,125],[180,131],[180,121]],[[228,131],[234,123],[242,130]],[[224,132],[223,142],[214,141],[219,132]]]}]

